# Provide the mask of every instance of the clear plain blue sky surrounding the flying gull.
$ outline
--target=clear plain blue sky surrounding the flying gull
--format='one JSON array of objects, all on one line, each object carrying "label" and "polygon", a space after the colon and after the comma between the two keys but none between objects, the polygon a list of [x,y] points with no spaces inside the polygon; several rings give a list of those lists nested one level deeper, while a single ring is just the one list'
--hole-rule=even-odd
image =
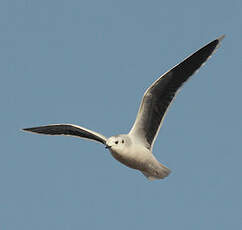
[{"label": "clear plain blue sky surrounding the flying gull", "polygon": [[[222,34],[157,138],[165,180],[98,143],[20,132],[127,133],[145,89]],[[241,0],[2,0],[0,229],[242,229],[241,41]]]}]

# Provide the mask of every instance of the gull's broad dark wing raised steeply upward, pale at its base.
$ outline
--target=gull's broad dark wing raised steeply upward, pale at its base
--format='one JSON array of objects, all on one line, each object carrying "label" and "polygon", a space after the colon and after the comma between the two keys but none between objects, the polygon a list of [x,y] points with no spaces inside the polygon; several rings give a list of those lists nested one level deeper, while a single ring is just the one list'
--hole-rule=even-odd
[{"label": "gull's broad dark wing raised steeply upward, pale at its base", "polygon": [[152,149],[165,113],[178,89],[212,55],[224,35],[210,42],[158,78],[145,92],[130,135]]}]

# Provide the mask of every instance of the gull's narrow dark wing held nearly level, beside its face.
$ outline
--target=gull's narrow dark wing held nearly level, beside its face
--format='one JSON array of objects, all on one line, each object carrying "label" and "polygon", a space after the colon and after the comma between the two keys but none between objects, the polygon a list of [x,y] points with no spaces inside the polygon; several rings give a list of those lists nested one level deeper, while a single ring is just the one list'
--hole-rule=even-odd
[{"label": "gull's narrow dark wing held nearly level, beside its face", "polygon": [[47,135],[67,135],[86,138],[93,141],[106,143],[107,138],[97,132],[72,124],[53,124],[33,128],[25,128],[24,131],[47,134]]}]

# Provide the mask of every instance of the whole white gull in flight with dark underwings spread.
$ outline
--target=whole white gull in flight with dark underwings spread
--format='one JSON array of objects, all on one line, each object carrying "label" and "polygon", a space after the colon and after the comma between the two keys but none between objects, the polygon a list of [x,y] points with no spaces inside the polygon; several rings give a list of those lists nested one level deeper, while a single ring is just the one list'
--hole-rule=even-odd
[{"label": "whole white gull in flight with dark underwings spread", "polygon": [[184,82],[208,60],[223,38],[224,35],[187,57],[160,76],[145,91],[136,120],[128,134],[106,138],[100,133],[73,124],[51,124],[23,130],[38,134],[75,136],[100,142],[116,160],[139,170],[149,180],[163,179],[171,170],[156,159],[152,149],[167,109]]}]

